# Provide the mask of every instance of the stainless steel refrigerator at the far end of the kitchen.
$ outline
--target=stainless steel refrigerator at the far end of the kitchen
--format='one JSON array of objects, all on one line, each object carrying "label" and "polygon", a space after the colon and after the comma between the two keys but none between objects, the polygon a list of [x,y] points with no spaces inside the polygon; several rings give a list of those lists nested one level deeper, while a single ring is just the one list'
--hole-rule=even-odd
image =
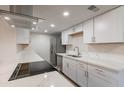
[{"label": "stainless steel refrigerator at the far end of the kitchen", "polygon": [[53,66],[57,66],[56,53],[65,53],[66,46],[61,43],[61,33],[53,34],[50,41],[50,62]]}]

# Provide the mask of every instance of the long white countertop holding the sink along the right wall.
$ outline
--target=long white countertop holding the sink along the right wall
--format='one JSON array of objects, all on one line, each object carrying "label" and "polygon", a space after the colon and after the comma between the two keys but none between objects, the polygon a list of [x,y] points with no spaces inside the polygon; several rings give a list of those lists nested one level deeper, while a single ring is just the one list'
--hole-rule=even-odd
[{"label": "long white countertop holding the sink along the right wall", "polygon": [[66,53],[57,53],[57,55],[68,57],[68,58],[71,58],[71,59],[74,59],[80,62],[85,62],[90,65],[104,67],[106,69],[116,71],[116,72],[120,72],[124,70],[124,62],[114,62],[110,60],[98,59],[98,58],[93,58],[93,57],[91,58],[88,56],[71,57],[71,56],[66,55]]}]

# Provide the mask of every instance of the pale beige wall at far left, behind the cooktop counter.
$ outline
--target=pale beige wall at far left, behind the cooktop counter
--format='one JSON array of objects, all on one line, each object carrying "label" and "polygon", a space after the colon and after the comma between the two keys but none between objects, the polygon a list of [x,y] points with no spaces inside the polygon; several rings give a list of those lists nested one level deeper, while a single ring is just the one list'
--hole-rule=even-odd
[{"label": "pale beige wall at far left, behind the cooktop counter", "polygon": [[16,62],[16,31],[0,17],[0,65]]}]

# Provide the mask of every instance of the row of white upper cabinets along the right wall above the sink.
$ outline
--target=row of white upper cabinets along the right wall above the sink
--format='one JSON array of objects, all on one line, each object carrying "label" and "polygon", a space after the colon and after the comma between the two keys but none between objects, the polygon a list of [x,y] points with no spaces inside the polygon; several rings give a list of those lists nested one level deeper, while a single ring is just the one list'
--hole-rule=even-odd
[{"label": "row of white upper cabinets along the right wall above the sink", "polygon": [[[124,43],[124,6],[89,19],[69,33],[79,31],[83,31],[83,43]],[[62,44],[69,44],[70,39],[68,31],[63,32]]]}]

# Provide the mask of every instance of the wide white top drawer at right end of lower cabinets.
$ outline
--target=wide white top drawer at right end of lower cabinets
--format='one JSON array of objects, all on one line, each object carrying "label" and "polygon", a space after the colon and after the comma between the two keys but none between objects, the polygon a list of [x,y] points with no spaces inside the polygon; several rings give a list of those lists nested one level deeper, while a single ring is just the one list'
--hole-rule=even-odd
[{"label": "wide white top drawer at right end of lower cabinets", "polygon": [[109,82],[116,82],[117,80],[117,73],[109,71],[102,67],[88,65],[88,72]]}]

